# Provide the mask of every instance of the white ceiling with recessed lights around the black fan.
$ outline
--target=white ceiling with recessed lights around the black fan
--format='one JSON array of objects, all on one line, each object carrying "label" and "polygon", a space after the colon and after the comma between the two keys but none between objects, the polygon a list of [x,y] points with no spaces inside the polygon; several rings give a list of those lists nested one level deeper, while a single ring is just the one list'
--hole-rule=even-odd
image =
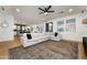
[{"label": "white ceiling with recessed lights around the black fan", "polygon": [[[81,10],[87,10],[86,6],[52,6],[51,10],[54,10],[55,12],[50,13],[48,15],[39,14],[40,11],[37,8],[44,8],[46,6],[3,6],[4,12],[12,14],[15,19],[15,23],[23,23],[23,24],[35,24],[35,23],[42,23],[46,19],[52,20],[65,15],[72,15],[80,13]],[[1,8],[1,7],[0,7]],[[15,9],[20,9],[20,12],[17,12]],[[68,12],[68,9],[73,9],[73,12]],[[58,13],[61,11],[64,11],[63,14]],[[1,12],[1,9],[0,9]]]}]

